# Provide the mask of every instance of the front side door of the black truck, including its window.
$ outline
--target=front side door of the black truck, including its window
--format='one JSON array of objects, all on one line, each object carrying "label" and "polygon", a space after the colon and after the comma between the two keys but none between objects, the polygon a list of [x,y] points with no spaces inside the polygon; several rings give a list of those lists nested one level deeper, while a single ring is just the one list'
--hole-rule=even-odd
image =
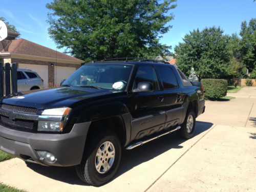
[{"label": "front side door of the black truck, including its window", "polygon": [[136,89],[139,82],[145,81],[151,82],[154,90],[146,93],[133,93],[132,100],[135,106],[131,112],[133,118],[131,140],[139,140],[164,128],[164,99],[154,67],[140,66],[133,88]]}]

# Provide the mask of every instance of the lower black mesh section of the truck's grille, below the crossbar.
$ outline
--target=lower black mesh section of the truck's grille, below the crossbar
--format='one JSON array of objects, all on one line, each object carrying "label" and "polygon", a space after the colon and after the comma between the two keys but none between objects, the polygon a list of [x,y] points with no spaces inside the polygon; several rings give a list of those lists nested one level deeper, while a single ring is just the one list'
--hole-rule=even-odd
[{"label": "lower black mesh section of the truck's grille, below the crossbar", "polygon": [[10,119],[9,117],[5,117],[0,115],[0,122],[3,125],[8,126],[9,128],[19,130],[19,131],[33,131],[34,129],[34,121],[25,120],[25,119]]}]

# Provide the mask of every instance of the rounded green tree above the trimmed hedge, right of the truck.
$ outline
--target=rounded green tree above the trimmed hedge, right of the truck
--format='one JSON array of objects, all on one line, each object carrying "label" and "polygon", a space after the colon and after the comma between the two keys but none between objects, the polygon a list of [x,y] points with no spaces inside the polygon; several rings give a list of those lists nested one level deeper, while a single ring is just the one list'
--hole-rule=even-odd
[{"label": "rounded green tree above the trimmed hedge, right of the truck", "polygon": [[188,76],[194,68],[202,78],[223,78],[228,75],[232,53],[228,36],[218,27],[193,30],[175,47],[177,66]]}]

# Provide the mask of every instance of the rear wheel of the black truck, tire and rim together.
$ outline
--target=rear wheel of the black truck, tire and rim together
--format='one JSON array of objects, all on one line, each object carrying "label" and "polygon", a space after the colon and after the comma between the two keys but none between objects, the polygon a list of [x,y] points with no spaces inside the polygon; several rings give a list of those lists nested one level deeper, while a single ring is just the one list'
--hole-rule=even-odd
[{"label": "rear wheel of the black truck, tire and rim together", "polygon": [[178,135],[184,139],[190,139],[194,136],[196,125],[196,115],[194,110],[188,109],[184,122],[181,124],[181,129],[178,130]]}]

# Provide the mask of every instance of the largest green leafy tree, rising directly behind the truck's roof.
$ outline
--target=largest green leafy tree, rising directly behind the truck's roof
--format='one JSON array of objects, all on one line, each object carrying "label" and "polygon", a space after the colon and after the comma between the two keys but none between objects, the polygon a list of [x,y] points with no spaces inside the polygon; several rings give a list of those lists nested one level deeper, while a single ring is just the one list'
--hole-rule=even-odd
[{"label": "largest green leafy tree, rising directly behind the truck's roof", "polygon": [[166,55],[170,47],[159,38],[171,27],[175,1],[54,0],[46,5],[49,34],[58,48],[86,61]]}]

